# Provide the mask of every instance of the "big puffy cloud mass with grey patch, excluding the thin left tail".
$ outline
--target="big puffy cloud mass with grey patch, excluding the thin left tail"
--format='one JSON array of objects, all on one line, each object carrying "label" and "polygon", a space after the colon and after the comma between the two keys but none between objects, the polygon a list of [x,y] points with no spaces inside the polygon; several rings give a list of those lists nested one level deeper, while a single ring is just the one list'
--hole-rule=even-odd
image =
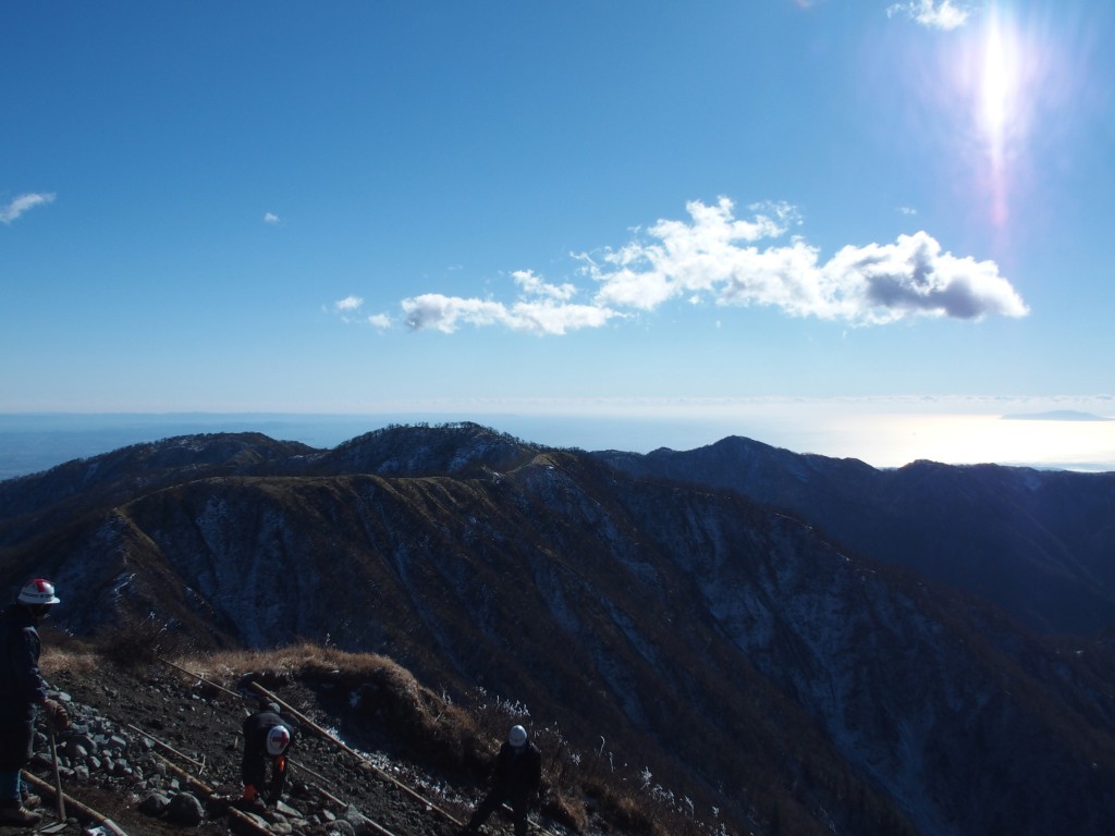
[{"label": "big puffy cloud mass with grey patch, excluding the thin left tail", "polygon": [[900,235],[893,244],[845,246],[827,263],[816,247],[794,236],[788,244],[759,247],[796,220],[782,206],[776,218],[735,218],[733,204],[688,206],[690,223],[659,222],[649,240],[634,241],[584,271],[599,284],[598,304],[652,310],[667,301],[699,295],[719,305],[775,305],[795,317],[893,322],[908,315],[981,319],[1021,317],[1028,311],[990,261],[942,252],[928,233]]}]

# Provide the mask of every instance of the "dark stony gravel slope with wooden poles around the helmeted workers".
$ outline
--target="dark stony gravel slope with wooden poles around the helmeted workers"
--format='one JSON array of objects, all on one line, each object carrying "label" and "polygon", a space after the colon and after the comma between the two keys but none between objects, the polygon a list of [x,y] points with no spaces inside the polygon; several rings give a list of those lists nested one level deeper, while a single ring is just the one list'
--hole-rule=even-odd
[{"label": "dark stony gravel slope with wooden poles around the helmeted workers", "polygon": [[[68,698],[74,719],[72,728],[57,736],[65,793],[128,836],[450,836],[458,833],[457,823],[467,818],[483,789],[458,791],[452,779],[382,752],[355,757],[303,727],[291,748],[292,772],[282,803],[273,810],[252,809],[240,816],[230,807],[241,795],[239,732],[249,710],[258,704],[254,693],[245,690],[252,699],[243,699],[159,664],[135,671],[107,664],[88,673],[62,671],[50,678],[50,684]],[[314,723],[336,728],[336,718],[322,707],[330,701],[328,693],[294,681],[261,684]],[[337,702],[336,696],[332,701]],[[212,795],[206,797],[175,767]],[[41,732],[29,771],[54,781],[49,740]],[[40,830],[46,830],[56,822],[56,810],[54,798],[41,795]],[[174,798],[180,795],[184,797]],[[171,808],[143,811],[162,806],[151,796],[171,799]],[[193,804],[191,796],[201,804]],[[68,813],[71,818],[61,833],[99,836],[95,819],[72,806]],[[191,815],[200,815],[201,820],[193,822]],[[249,818],[254,824],[248,824]],[[553,823],[544,824],[552,834],[566,833]],[[8,832],[19,830],[0,828],[0,833]],[[488,833],[511,833],[510,822],[493,818]]]}]

